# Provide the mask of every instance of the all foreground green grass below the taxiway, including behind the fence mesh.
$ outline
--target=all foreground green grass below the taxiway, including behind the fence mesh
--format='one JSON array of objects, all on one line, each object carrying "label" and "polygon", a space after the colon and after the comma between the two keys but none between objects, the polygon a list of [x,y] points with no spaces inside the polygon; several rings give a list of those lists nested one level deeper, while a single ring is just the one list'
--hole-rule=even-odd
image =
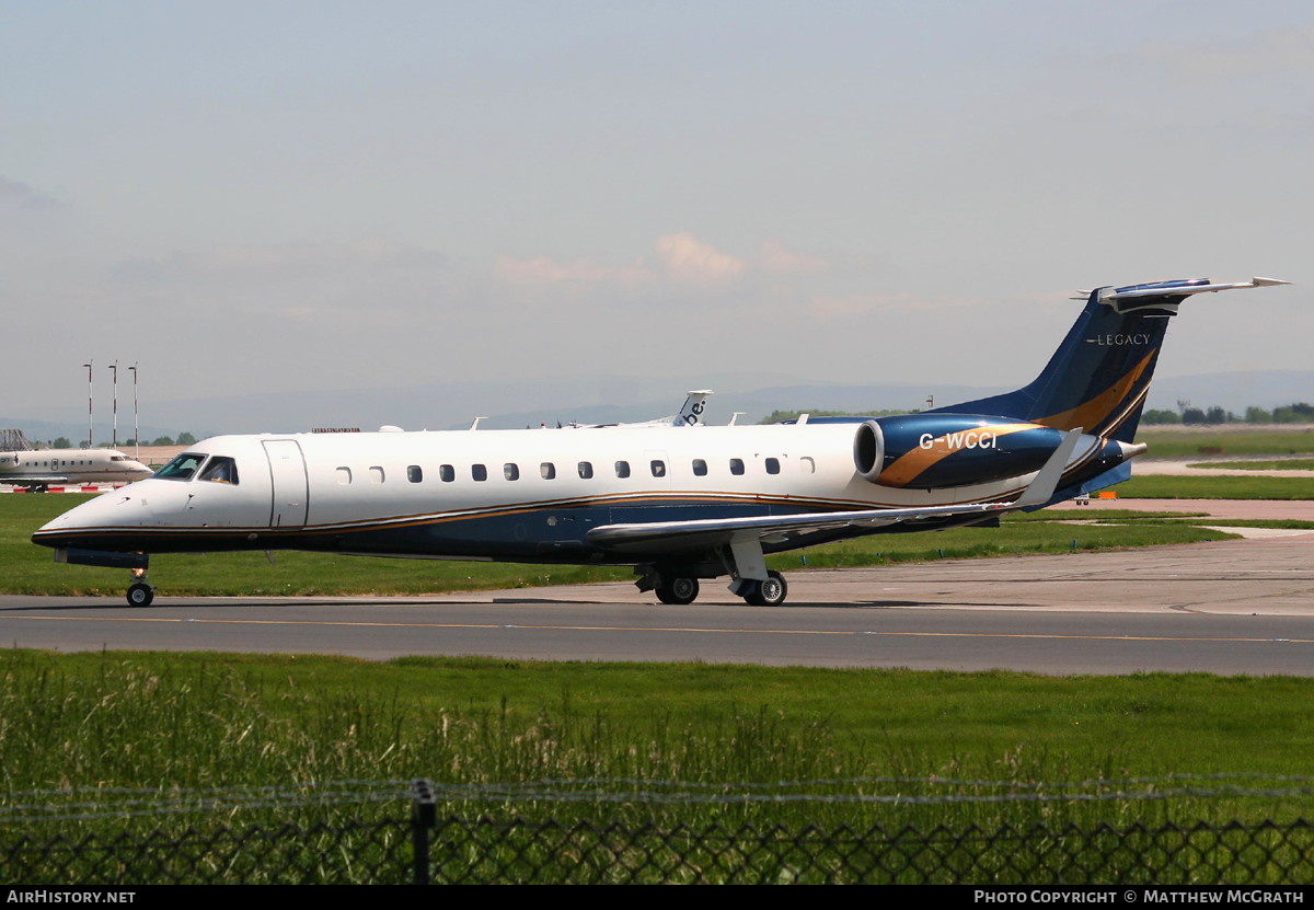
[{"label": "all foreground green grass below the taxiway, including behind the fence mesh", "polygon": [[[683,835],[674,843],[671,831],[752,825],[773,843],[803,832],[816,843],[840,831],[849,851],[861,847],[855,832],[872,826],[930,832],[975,825],[979,835],[954,848],[958,860],[971,860],[968,874],[991,876],[999,867],[1026,881],[1026,863],[1035,860],[1012,851],[1016,831],[1035,825],[1255,825],[1314,813],[1310,796],[1239,792],[1298,788],[1273,777],[1310,775],[1309,679],[18,650],[0,652],[0,847],[16,864],[11,871],[21,861],[29,884],[298,880],[289,863],[309,869],[311,880],[399,878],[405,830],[392,825],[380,840],[360,826],[405,819],[402,793],[417,777],[438,785],[440,819],[493,826],[487,843],[464,827],[448,834],[455,839],[436,861],[459,876],[487,860],[497,881],[565,877],[569,856],[557,853],[576,850],[573,838],[552,835],[548,846],[509,840],[545,819],[591,823],[612,832],[604,842],[627,844],[623,853],[653,850],[669,868],[704,869],[712,881],[735,865],[717,856],[766,842],[738,844],[719,834],[706,844]],[[393,781],[397,796],[317,801],[317,793],[367,792],[365,781]],[[518,784],[527,785],[523,794]],[[240,806],[223,796],[261,786],[301,793],[302,802]],[[1108,796],[1162,790],[1189,792],[1171,800]],[[576,792],[612,798],[558,798]],[[749,793],[812,798],[737,800]],[[1018,793],[1039,798],[1009,798]],[[827,798],[859,794],[886,801]],[[215,805],[143,811],[202,797]],[[286,831],[276,843],[242,834],[256,826],[309,834]],[[352,830],[332,834],[336,826]],[[999,843],[980,836],[1005,827],[1014,834]],[[639,847],[633,831],[650,832],[650,843]],[[188,844],[175,848],[173,839]],[[20,852],[21,840],[28,847]],[[110,843],[124,844],[122,852],[70,848]],[[1154,847],[1143,835],[1135,843]],[[1281,882],[1290,863],[1303,868],[1286,856],[1303,842],[1282,848],[1280,859],[1263,853],[1255,861],[1213,857],[1209,843],[1206,853],[1188,851],[1172,874]],[[527,852],[545,848],[553,871],[543,873]],[[1154,874],[1106,846],[1083,850],[1106,874]],[[265,855],[268,865],[259,861]],[[940,865],[934,847],[920,856],[936,864],[938,878],[951,880],[953,867]],[[757,861],[769,871],[779,864],[781,873],[790,868],[774,853]],[[836,874],[848,880],[850,868]]]}]

